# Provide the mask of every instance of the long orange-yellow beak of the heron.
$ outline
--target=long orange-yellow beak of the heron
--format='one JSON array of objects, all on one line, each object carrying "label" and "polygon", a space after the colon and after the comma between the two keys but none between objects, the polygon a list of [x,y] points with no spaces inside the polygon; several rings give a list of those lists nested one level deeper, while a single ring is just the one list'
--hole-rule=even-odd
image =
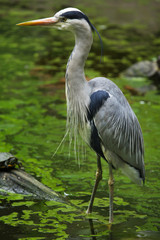
[{"label": "long orange-yellow beak of the heron", "polygon": [[55,17],[50,18],[42,18],[38,20],[32,20],[27,22],[18,23],[18,26],[47,26],[47,25],[54,25],[58,22],[58,19]]}]

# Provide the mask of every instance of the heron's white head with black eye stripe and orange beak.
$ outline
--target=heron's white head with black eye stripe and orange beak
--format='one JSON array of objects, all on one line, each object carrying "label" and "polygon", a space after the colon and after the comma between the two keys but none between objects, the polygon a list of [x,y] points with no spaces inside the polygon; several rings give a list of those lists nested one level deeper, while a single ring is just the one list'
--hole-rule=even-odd
[{"label": "heron's white head with black eye stripe and orange beak", "polygon": [[19,26],[51,26],[58,29],[71,31],[90,29],[94,30],[88,17],[77,8],[65,8],[57,12],[53,17],[18,23]]}]

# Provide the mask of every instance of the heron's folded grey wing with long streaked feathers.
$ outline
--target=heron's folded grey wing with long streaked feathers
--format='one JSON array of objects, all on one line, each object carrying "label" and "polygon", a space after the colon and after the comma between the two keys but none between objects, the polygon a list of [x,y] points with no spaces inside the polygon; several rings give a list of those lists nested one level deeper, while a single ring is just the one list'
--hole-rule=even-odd
[{"label": "heron's folded grey wing with long streaked feathers", "polygon": [[[144,179],[141,127],[121,90],[110,80],[105,81],[107,81],[106,91],[109,92],[110,97],[94,117],[102,145],[106,151],[114,153],[122,161],[139,170],[141,178]],[[105,81],[103,79],[103,84]],[[96,88],[95,86],[94,91]]]}]

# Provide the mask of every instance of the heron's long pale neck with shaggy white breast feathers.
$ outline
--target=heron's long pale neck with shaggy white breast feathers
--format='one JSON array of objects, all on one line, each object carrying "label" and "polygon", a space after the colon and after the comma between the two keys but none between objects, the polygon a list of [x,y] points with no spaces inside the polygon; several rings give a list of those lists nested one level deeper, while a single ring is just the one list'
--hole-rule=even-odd
[{"label": "heron's long pale neck with shaggy white breast feathers", "polygon": [[67,128],[76,138],[77,131],[84,131],[86,127],[87,107],[90,97],[88,82],[84,74],[84,65],[93,37],[89,28],[80,29],[74,33],[75,47],[68,60],[66,70],[66,98]]}]

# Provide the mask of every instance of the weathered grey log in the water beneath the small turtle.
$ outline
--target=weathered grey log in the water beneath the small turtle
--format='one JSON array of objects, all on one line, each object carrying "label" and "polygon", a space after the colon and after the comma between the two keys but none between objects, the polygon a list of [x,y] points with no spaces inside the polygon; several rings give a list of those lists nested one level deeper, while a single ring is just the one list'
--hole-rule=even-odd
[{"label": "weathered grey log in the water beneath the small turtle", "polygon": [[67,203],[60,194],[21,169],[0,170],[0,188],[7,192],[32,195],[38,199]]}]

